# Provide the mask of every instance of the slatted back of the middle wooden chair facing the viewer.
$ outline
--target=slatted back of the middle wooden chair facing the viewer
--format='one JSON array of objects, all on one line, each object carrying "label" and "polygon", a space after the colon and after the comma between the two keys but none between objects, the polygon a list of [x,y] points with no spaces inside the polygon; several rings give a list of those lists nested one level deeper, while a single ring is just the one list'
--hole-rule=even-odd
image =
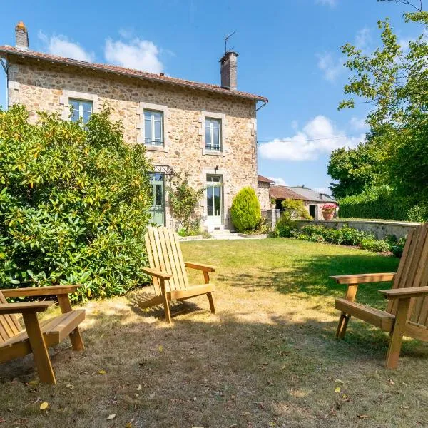
[{"label": "slatted back of the middle wooden chair facing the viewer", "polygon": [[[164,227],[148,228],[145,240],[149,266],[152,269],[172,275],[170,280],[165,281],[166,290],[187,288],[189,285],[188,276],[177,234]],[[156,294],[160,295],[161,285],[156,277],[153,277],[153,287]]]}]

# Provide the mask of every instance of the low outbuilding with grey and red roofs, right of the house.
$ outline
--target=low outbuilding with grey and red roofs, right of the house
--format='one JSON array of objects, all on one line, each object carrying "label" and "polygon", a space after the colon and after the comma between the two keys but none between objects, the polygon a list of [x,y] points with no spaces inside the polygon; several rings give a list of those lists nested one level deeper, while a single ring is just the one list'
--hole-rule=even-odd
[{"label": "low outbuilding with grey and red roofs, right of the house", "polygon": [[322,205],[336,203],[334,199],[330,198],[329,195],[325,195],[325,193],[299,186],[272,185],[270,193],[275,198],[278,209],[282,209],[282,200],[302,200],[307,212],[314,220],[322,219]]}]

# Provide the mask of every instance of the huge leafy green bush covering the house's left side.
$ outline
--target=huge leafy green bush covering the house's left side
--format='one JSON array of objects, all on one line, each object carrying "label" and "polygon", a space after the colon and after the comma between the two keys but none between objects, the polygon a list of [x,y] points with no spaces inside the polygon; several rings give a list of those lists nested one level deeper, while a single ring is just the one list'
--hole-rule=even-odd
[{"label": "huge leafy green bush covering the house's left side", "polygon": [[143,281],[148,163],[108,110],[85,127],[0,111],[0,288],[81,284],[118,295]]}]

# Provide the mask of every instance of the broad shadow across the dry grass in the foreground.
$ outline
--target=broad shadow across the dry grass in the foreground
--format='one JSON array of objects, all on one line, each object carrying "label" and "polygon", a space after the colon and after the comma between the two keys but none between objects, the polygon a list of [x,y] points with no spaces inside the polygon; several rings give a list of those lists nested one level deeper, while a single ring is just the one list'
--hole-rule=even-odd
[{"label": "broad shadow across the dry grass in the foreground", "polygon": [[[22,374],[23,360],[0,365],[0,399],[11,409],[6,422],[28,419],[30,426],[61,427],[88,426],[88,421],[91,427],[340,427],[357,423],[362,409],[371,412],[367,426],[385,422],[377,402],[379,377],[386,384],[390,376],[382,369],[384,349],[377,343],[355,352],[355,347],[335,341],[335,322],[310,317],[290,322],[280,315],[262,322],[248,311],[211,317],[200,310],[175,317],[170,326],[144,314],[136,319],[129,305],[114,315],[88,314],[86,351],[62,350],[53,357],[55,389],[25,387],[21,382],[35,374],[28,367]],[[24,364],[31,365],[31,360]],[[397,384],[405,379],[409,385],[400,385],[400,391],[405,389],[414,402],[418,392],[412,379],[418,366],[419,360],[407,357],[394,372]],[[106,374],[99,374],[101,369]],[[19,382],[11,383],[14,377]],[[351,398],[342,400],[339,408],[337,377]],[[48,413],[39,411],[36,397],[49,400]],[[390,394],[388,400],[389,406],[398,407],[402,394]],[[106,424],[109,414],[116,417]]]}]

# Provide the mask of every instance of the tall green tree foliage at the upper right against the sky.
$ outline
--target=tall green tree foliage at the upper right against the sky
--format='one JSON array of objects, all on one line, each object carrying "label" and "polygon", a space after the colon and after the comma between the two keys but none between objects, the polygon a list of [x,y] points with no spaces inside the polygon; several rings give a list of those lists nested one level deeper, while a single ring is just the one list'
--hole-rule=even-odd
[{"label": "tall green tree foliage at the upper right against the sky", "polygon": [[362,193],[366,188],[389,185],[406,206],[428,203],[428,14],[422,2],[402,1],[414,12],[407,23],[422,28],[409,46],[400,46],[388,20],[379,21],[382,45],[372,54],[347,44],[343,53],[352,72],[340,108],[367,103],[370,126],[367,141],[352,150],[332,153],[329,173],[336,197]]}]

